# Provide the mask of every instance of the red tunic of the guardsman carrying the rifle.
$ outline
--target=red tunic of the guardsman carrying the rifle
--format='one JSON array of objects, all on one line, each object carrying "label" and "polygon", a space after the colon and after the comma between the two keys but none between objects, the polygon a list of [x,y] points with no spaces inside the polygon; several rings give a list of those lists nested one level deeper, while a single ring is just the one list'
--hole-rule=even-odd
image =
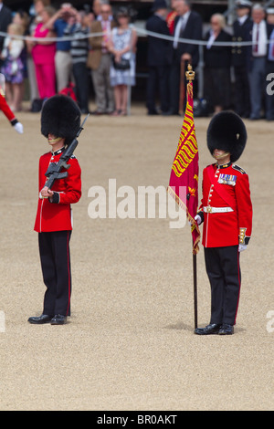
[{"label": "red tunic of the guardsman carrying the rifle", "polygon": [[[39,161],[39,193],[47,181],[45,173],[49,163],[58,162],[62,152],[62,150],[54,153],[47,152],[41,156]],[[55,194],[57,198],[54,198],[57,203],[50,203],[48,198],[39,197],[34,227],[38,233],[72,230],[70,204],[77,203],[81,196],[81,170],[74,155],[67,163],[70,164],[67,170],[68,177],[58,179],[52,186],[52,191],[57,193]],[[63,171],[66,170],[63,169]]]}]

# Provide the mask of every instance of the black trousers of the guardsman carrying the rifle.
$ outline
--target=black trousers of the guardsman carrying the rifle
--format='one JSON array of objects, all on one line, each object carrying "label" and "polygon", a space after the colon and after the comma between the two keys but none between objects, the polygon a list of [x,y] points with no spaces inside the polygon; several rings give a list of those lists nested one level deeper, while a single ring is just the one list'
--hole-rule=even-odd
[{"label": "black trousers of the guardsman carrying the rifle", "polygon": [[43,314],[48,316],[70,316],[70,235],[71,231],[38,234],[43,279],[47,287]]}]

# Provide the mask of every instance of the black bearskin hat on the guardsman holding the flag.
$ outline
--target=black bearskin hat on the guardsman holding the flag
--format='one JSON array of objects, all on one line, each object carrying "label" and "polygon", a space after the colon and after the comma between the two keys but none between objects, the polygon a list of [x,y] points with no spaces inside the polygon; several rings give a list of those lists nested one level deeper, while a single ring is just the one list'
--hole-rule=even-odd
[{"label": "black bearskin hat on the guardsman holding the flag", "polygon": [[234,111],[217,113],[207,129],[207,147],[213,155],[215,149],[230,153],[231,162],[236,162],[244,152],[248,134],[246,126]]}]

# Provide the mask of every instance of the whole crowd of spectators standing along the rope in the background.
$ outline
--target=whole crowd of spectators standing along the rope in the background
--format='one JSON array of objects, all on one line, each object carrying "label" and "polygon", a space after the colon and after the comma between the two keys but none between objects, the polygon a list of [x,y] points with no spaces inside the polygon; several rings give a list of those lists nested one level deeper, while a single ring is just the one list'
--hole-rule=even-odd
[{"label": "whole crowd of spectators standing along the rope in the background", "polygon": [[[273,95],[267,90],[267,77],[274,73],[274,8],[237,0],[229,27],[220,13],[206,25],[191,1],[170,2],[154,0],[145,23],[148,115],[179,114],[185,103],[184,71],[191,63],[198,71],[197,116],[232,109],[242,118],[274,120]],[[81,10],[69,3],[56,10],[50,0],[34,0],[28,12],[16,13],[0,0],[0,31],[6,33],[0,37],[0,71],[11,109],[22,110],[27,81],[31,111],[64,93],[88,113],[91,84],[96,103],[91,113],[126,115],[129,89],[136,85],[138,38],[131,20],[129,8],[113,13],[107,0],[87,2]],[[202,82],[204,110],[198,99]]]}]

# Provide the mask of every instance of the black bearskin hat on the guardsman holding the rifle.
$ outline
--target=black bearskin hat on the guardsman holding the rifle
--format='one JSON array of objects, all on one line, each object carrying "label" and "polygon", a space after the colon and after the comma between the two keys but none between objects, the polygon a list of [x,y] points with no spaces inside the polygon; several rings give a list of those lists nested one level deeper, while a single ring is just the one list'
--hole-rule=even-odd
[{"label": "black bearskin hat on the guardsman holding the rifle", "polygon": [[45,101],[41,112],[41,133],[65,138],[69,144],[79,131],[81,112],[76,102],[66,95],[54,95]]}]

